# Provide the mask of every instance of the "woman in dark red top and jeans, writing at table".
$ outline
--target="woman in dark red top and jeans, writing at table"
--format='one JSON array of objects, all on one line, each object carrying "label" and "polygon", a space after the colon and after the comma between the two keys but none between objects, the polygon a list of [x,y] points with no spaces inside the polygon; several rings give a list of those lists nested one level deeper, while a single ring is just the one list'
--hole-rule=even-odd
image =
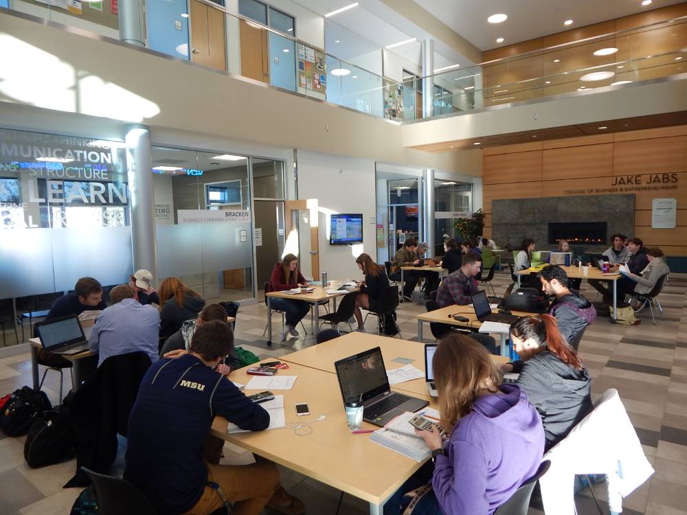
[{"label": "woman in dark red top and jeans, writing at table", "polygon": [[[298,258],[293,254],[286,254],[281,263],[275,263],[274,268],[272,268],[272,275],[269,277],[270,291],[291,290],[307,284],[308,282],[298,270]],[[272,308],[286,314],[282,341],[286,340],[287,334],[298,336],[296,325],[308,314],[310,304],[296,299],[280,299],[278,297],[272,297],[269,303]]]}]

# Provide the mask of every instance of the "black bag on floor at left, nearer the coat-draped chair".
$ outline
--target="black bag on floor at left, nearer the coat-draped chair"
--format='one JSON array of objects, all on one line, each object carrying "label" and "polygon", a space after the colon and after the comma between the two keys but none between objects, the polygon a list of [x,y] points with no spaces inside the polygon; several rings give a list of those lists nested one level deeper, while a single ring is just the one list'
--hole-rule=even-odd
[{"label": "black bag on floor at left, nearer the coat-draped chair", "polygon": [[75,444],[71,415],[63,404],[34,418],[26,435],[24,458],[32,468],[53,465],[73,458]]}]

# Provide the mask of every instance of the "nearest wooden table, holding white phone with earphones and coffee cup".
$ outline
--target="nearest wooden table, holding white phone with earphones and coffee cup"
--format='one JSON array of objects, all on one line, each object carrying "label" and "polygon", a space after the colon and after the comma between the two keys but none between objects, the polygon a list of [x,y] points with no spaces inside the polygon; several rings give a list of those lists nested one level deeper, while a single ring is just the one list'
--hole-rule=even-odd
[{"label": "nearest wooden table, holding white phone with earphones and coffee cup", "polygon": [[[342,338],[333,340],[341,341]],[[398,340],[391,340],[398,343]],[[316,345],[316,348],[328,345]],[[345,345],[342,345],[345,347]],[[418,345],[418,347],[421,347]],[[232,371],[232,381],[247,384],[247,367]],[[286,428],[251,433],[227,433],[227,420],[215,417],[211,433],[286,468],[370,503],[370,514],[379,515],[385,501],[422,464],[375,444],[369,434],[353,435],[346,425],[346,413],[335,374],[290,363],[280,374],[298,376],[291,390],[274,390],[284,396]],[[247,395],[257,390],[246,390]],[[425,388],[425,394],[427,389]],[[425,396],[429,400],[429,396]],[[307,402],[311,415],[297,417],[294,404]],[[436,407],[436,404],[434,405]],[[326,420],[313,422],[320,415]],[[312,433],[299,436],[289,424],[313,422]],[[363,422],[363,429],[376,426]]]}]

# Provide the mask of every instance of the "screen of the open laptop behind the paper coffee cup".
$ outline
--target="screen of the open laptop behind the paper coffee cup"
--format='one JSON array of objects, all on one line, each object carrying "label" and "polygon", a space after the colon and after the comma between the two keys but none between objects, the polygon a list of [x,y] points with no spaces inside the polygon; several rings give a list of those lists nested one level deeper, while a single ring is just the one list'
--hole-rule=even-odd
[{"label": "screen of the open laptop behind the paper coffee cup", "polygon": [[389,391],[389,380],[379,347],[335,363],[343,401],[368,400]]}]

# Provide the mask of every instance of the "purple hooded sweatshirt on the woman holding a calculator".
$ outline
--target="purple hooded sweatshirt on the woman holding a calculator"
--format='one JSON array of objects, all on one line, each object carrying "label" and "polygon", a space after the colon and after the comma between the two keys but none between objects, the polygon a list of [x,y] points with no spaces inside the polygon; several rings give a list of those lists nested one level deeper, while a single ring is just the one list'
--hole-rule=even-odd
[{"label": "purple hooded sweatshirt on the woman holding a calculator", "polygon": [[537,473],[544,432],[517,385],[477,398],[436,458],[432,488],[445,514],[491,515]]}]

